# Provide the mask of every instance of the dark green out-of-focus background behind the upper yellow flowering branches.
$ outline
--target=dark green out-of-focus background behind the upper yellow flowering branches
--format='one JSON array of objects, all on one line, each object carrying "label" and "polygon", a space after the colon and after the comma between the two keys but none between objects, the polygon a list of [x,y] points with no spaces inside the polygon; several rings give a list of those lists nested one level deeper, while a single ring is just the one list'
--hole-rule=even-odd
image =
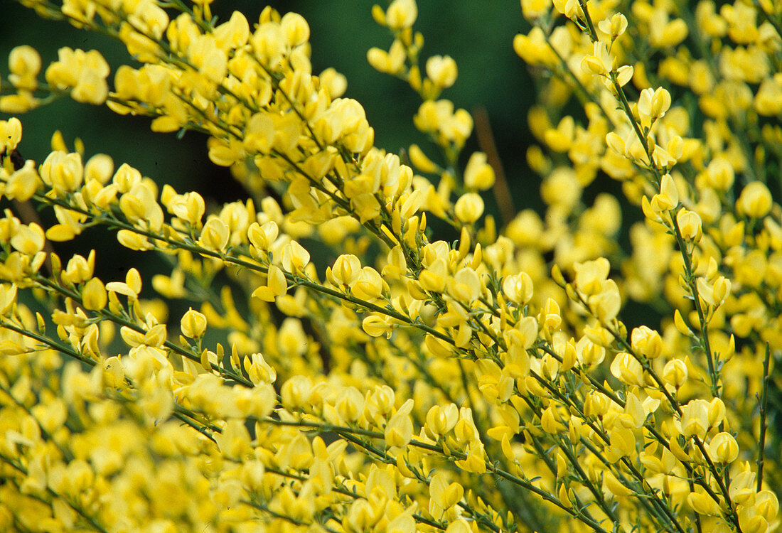
[{"label": "dark green out-of-focus background behind the upper yellow flowering branches", "polygon": [[[0,31],[0,75],[8,73],[7,57],[16,45],[31,45],[41,53],[44,65],[57,57],[63,46],[99,49],[112,70],[130,62],[124,46],[101,35],[77,30],[64,22],[41,20],[16,2],[3,0]],[[371,0],[321,0],[321,2],[268,2],[281,13],[301,13],[310,23],[314,73],[334,67],[348,80],[346,96],[364,106],[375,127],[375,143],[389,152],[400,152],[417,142],[430,156],[425,136],[415,130],[412,116],[420,101],[400,80],[373,70],[366,53],[372,46],[388,49],[393,40],[386,28],[371,18]],[[457,84],[442,98],[457,107],[473,111],[486,107],[500,157],[514,191],[516,205],[529,202],[529,188],[537,189],[537,177],[530,176],[524,163],[529,133],[526,109],[533,101],[533,89],[522,61],[511,48],[512,39],[526,29],[516,0],[475,2],[474,0],[430,0],[419,2],[416,29],[425,37],[422,59],[429,55],[451,55],[459,67]],[[239,10],[251,23],[267,2],[217,0],[213,13],[228,20]],[[424,61],[421,62],[423,66]],[[113,74],[109,77],[109,85]],[[0,115],[5,119],[7,116]],[[84,141],[87,156],[96,152],[113,156],[115,163],[127,162],[159,182],[178,191],[197,190],[217,202],[239,199],[242,190],[229,186],[226,169],[206,157],[206,138],[188,132],[178,140],[174,134],[153,134],[143,117],[117,116],[106,108],[59,101],[20,117],[23,143],[20,152],[27,159],[41,161],[48,152],[52,132],[60,130],[72,146],[75,137]],[[475,139],[465,153],[477,149]],[[537,195],[532,195],[536,197]]]}]

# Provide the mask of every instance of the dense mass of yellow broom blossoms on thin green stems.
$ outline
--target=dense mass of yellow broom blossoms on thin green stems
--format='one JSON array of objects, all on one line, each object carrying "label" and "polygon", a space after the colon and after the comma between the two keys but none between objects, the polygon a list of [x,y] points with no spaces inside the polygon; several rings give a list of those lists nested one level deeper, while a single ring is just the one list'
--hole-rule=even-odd
[{"label": "dense mass of yellow broom blossoms on thin green stems", "polygon": [[[2,77],[0,530],[779,530],[782,4],[522,0],[545,208],[500,225],[414,0],[367,54],[421,98],[404,157],[296,13],[20,2],[129,58],[20,46]],[[54,98],[203,133],[249,199],[59,133],[24,160],[16,115]],[[583,195],[600,173],[622,197]],[[170,275],[54,251],[95,227]]]}]

